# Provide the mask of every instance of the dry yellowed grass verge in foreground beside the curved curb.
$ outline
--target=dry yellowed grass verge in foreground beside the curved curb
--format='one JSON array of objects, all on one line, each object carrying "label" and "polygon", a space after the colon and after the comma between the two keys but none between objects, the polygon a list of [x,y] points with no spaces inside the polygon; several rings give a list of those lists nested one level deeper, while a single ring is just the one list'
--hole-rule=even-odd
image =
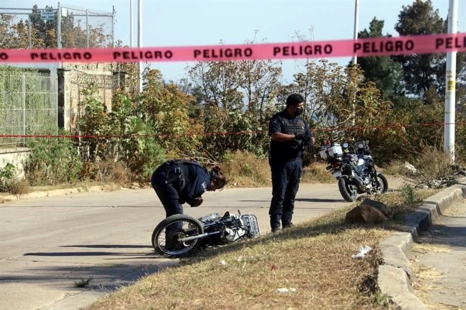
[{"label": "dry yellowed grass verge in foreground beside the curved curb", "polygon": [[[392,208],[403,204],[397,192],[380,198]],[[281,233],[201,252],[203,257],[147,276],[86,309],[395,309],[380,294],[376,276],[378,245],[399,224],[345,224],[355,205]],[[363,245],[373,250],[352,259]]]}]

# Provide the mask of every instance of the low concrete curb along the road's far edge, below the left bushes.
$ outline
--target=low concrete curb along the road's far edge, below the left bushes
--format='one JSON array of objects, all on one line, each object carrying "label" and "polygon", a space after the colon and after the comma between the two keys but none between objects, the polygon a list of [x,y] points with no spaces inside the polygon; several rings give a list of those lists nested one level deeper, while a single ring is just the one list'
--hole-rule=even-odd
[{"label": "low concrete curb along the road's far edge, below the left bushes", "polygon": [[95,193],[102,191],[111,191],[120,189],[120,186],[116,185],[97,185],[89,187],[73,187],[73,188],[62,188],[62,189],[52,189],[52,190],[43,190],[31,192],[23,195],[0,195],[0,201],[9,202],[9,201],[18,201],[23,199],[34,199],[34,198],[44,198],[52,196],[65,196],[68,194],[77,194],[77,193]]}]

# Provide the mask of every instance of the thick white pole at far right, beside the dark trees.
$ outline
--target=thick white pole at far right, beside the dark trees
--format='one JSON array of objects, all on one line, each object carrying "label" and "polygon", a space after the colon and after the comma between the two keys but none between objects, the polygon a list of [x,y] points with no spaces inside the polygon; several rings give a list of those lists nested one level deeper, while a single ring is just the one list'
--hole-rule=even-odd
[{"label": "thick white pole at far right, beside the dark trees", "polygon": [[[448,33],[458,31],[458,0],[449,0]],[[455,88],[456,88],[456,51],[447,53],[445,92],[445,153],[455,162]]]}]

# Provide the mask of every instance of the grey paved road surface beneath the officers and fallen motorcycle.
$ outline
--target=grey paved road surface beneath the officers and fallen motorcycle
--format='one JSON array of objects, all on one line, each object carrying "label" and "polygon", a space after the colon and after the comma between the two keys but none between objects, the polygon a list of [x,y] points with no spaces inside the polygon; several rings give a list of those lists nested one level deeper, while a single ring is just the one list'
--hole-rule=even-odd
[{"label": "grey paved road surface beneath the officers and fallen motorcycle", "polygon": [[[402,184],[389,180],[390,188]],[[271,188],[208,192],[184,213],[255,214],[268,233]],[[347,205],[336,184],[301,184],[293,222]],[[152,189],[48,197],[0,205],[0,308],[78,309],[178,260],[155,255],[151,234],[165,218]],[[93,278],[87,288],[75,282]],[[3,308],[6,307],[6,308]]]}]

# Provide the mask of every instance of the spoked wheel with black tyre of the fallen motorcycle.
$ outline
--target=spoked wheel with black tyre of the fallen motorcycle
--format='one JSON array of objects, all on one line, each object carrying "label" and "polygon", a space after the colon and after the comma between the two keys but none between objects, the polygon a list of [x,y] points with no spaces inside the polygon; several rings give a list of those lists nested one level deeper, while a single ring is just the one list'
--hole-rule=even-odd
[{"label": "spoked wheel with black tyre of the fallen motorcycle", "polygon": [[200,239],[181,241],[185,237],[204,233],[200,220],[185,214],[176,214],[165,218],[152,233],[152,247],[168,258],[186,257],[198,250]]}]

